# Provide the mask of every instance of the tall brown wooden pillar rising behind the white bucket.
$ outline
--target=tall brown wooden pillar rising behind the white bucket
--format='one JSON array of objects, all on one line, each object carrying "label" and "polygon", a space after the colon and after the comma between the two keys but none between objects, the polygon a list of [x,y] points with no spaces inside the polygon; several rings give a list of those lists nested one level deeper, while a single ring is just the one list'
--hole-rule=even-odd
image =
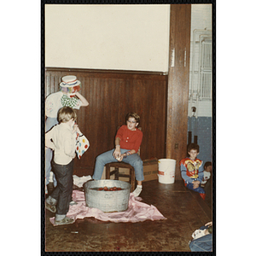
[{"label": "tall brown wooden pillar rising behind the white bucket", "polygon": [[187,154],[191,4],[172,4],[170,19],[166,158],[179,161]]}]

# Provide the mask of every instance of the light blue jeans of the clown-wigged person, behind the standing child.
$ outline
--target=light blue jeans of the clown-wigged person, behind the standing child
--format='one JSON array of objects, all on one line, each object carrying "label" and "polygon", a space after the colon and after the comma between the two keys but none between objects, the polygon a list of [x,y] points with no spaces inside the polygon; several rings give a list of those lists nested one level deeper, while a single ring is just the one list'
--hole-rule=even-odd
[{"label": "light blue jeans of the clown-wigged person, behind the standing child", "polygon": [[[47,118],[45,121],[45,132],[49,131],[54,125],[58,124],[58,120],[56,118]],[[51,171],[51,160],[53,156],[53,151],[50,148],[46,148],[45,150],[45,183],[49,184],[49,172]],[[57,185],[55,175],[53,177],[54,186]]]}]

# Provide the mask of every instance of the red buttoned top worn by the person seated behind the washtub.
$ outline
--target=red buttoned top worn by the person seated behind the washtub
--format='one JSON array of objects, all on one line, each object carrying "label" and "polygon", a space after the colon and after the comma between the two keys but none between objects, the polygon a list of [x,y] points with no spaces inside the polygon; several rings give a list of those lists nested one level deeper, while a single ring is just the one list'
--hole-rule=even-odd
[{"label": "red buttoned top worn by the person seated behind the washtub", "polygon": [[115,137],[120,138],[120,148],[134,149],[137,153],[143,141],[143,131],[137,128],[135,131],[131,131],[127,128],[127,125],[122,125]]}]

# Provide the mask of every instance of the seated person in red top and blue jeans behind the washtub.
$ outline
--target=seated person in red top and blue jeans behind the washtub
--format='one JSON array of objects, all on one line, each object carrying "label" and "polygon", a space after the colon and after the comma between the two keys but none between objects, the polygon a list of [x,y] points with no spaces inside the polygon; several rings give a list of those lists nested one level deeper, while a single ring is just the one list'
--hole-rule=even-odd
[{"label": "seated person in red top and blue jeans behind the washtub", "polygon": [[111,162],[123,161],[134,167],[137,188],[132,192],[135,196],[143,190],[143,160],[137,154],[143,141],[143,132],[137,129],[140,117],[137,113],[126,115],[126,125],[122,125],[115,137],[115,148],[96,157],[93,179],[100,180],[104,166]]}]

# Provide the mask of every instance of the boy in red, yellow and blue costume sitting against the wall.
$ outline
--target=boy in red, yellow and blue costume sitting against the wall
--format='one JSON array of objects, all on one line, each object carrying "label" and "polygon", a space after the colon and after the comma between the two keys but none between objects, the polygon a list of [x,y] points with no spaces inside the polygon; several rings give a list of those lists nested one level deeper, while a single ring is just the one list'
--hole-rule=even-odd
[{"label": "boy in red, yellow and blue costume sitting against the wall", "polygon": [[201,198],[205,200],[206,192],[201,188],[201,181],[204,176],[202,161],[196,158],[199,154],[199,146],[195,143],[189,144],[188,154],[189,158],[180,161],[180,171],[184,185],[186,188],[198,192]]}]

